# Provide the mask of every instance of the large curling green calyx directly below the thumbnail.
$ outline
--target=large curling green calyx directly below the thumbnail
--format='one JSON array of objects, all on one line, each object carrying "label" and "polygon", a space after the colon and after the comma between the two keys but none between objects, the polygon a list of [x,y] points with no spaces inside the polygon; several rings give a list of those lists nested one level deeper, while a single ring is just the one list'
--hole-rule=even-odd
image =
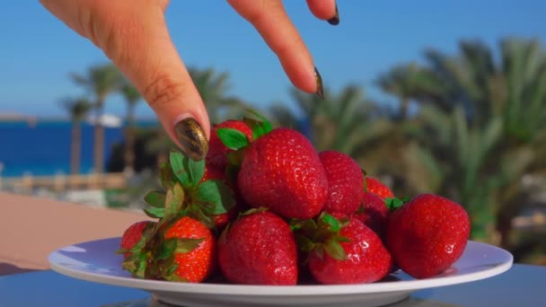
[{"label": "large curling green calyx directly below the thumbnail", "polygon": [[172,151],[169,162],[160,168],[164,191],[146,194],[145,214],[154,218],[182,214],[214,228],[214,215],[222,215],[235,206],[233,191],[222,180],[202,180],[205,161],[193,161]]}]

